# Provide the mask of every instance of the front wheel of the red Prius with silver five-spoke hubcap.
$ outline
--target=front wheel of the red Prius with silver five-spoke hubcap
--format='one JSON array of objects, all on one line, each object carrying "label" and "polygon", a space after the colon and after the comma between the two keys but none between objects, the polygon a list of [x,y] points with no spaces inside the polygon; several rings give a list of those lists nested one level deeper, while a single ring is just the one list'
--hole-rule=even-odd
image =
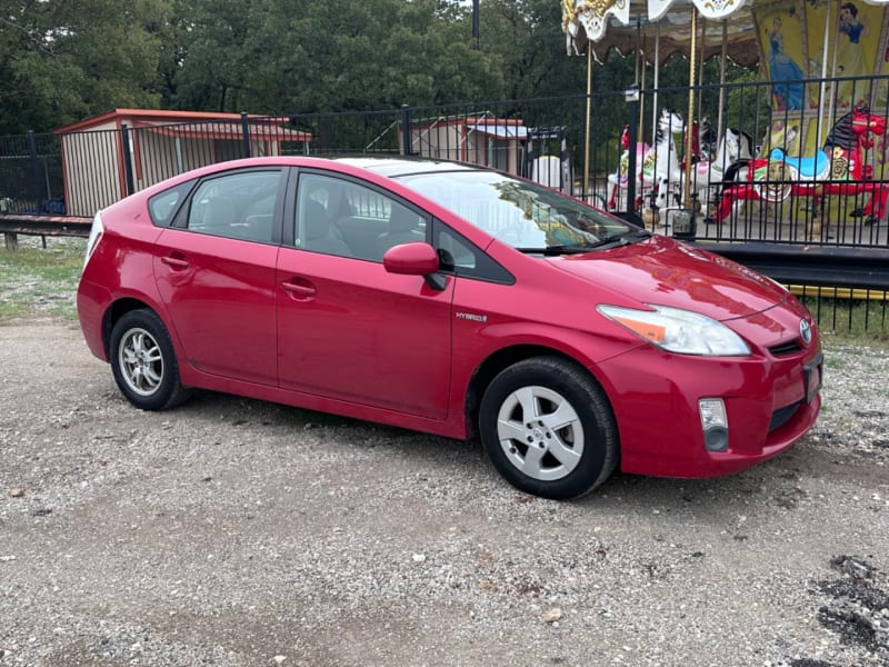
[{"label": "front wheel of the red Prius with silver five-spoke hubcap", "polygon": [[479,434],[512,486],[553,500],[588,494],[618,464],[617,425],[605,391],[585,369],[558,357],[502,370],[482,397]]}]

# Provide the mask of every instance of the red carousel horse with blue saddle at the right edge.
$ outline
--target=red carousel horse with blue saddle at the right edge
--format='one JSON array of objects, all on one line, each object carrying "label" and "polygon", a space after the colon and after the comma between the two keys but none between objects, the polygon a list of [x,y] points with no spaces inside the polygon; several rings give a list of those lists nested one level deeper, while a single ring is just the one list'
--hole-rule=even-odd
[{"label": "red carousel horse with blue saddle at the right edge", "polygon": [[778,203],[793,196],[811,197],[818,205],[825,195],[858,196],[869,192],[862,208],[852,217],[866,218],[866,225],[882,219],[889,186],[872,180],[871,168],[865,165],[866,150],[873,145],[870,135],[883,135],[886,119],[870,113],[866,107],[842,116],[825,140],[823,150],[811,157],[790,157],[773,148],[767,158],[750,160],[747,180],[722,191],[716,221],[730,213],[740,200],[761,200]]}]

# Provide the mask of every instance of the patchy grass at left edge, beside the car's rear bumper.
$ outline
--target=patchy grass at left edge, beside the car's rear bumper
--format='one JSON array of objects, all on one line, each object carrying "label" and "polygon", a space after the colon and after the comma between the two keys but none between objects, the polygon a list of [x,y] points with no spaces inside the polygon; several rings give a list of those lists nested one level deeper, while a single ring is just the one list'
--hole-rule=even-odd
[{"label": "patchy grass at left edge, beside the car's rear bumper", "polygon": [[77,283],[87,240],[19,240],[19,249],[0,250],[0,319],[33,315],[77,319]]}]

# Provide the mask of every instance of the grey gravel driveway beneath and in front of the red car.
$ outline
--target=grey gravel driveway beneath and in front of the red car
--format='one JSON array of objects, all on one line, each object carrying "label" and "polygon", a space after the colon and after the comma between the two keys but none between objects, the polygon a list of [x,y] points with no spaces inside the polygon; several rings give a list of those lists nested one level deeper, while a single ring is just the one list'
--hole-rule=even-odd
[{"label": "grey gravel driveway beneath and in front of the red car", "polygon": [[131,408],[0,323],[0,667],[889,666],[889,355],[793,450],[515,491],[478,442],[201,394]]}]

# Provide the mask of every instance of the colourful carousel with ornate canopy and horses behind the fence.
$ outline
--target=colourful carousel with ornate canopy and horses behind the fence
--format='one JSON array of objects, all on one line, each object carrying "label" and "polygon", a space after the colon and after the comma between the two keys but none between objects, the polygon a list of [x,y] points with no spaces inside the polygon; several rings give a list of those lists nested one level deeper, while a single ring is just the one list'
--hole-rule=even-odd
[{"label": "colourful carousel with ornate canopy and horses behind the fence", "polygon": [[[792,201],[886,227],[887,7],[889,0],[563,0],[566,47],[587,58],[588,99],[593,63],[613,52],[636,57],[639,88],[651,92],[638,127],[625,130],[608,208],[639,212],[652,226],[670,211],[675,220],[722,225],[748,202]],[[658,72],[676,53],[688,60],[688,99],[668,108]],[[718,84],[702,80],[702,63],[713,57]],[[758,72],[767,112],[757,136],[726,117],[729,60]],[[705,86],[719,91],[707,119]],[[589,147],[585,183],[588,165]]]}]

